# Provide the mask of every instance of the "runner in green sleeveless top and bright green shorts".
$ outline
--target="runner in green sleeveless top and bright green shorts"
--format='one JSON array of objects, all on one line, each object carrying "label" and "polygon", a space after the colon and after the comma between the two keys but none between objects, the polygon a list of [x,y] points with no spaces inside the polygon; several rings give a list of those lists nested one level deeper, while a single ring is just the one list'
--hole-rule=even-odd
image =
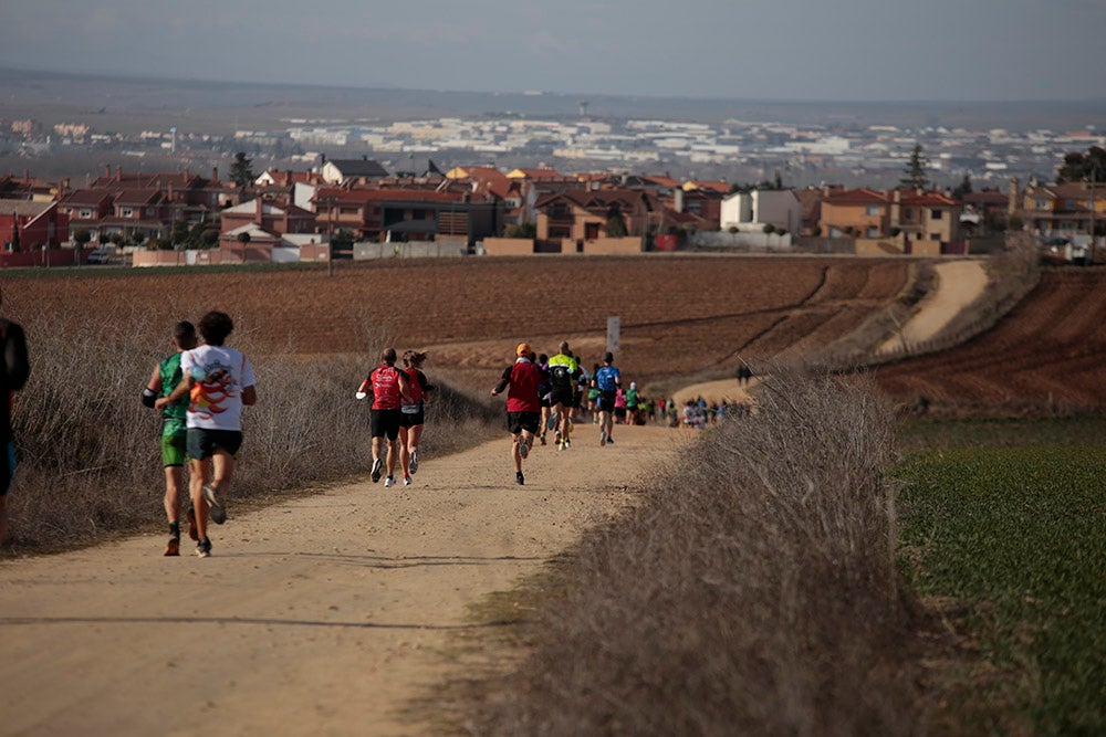
[{"label": "runner in green sleeveless top and bright green shorts", "polygon": [[[167,397],[184,378],[180,356],[196,347],[196,326],[188,320],[177,323],[169,340],[174,354],[154,367],[142,392],[142,403],[153,408],[158,397]],[[169,520],[166,556],[180,555],[180,491],[185,487],[185,459],[188,445],[188,397],[181,396],[161,410],[161,465],[165,467],[165,516]],[[188,505],[188,537],[199,541],[196,512]]]}]

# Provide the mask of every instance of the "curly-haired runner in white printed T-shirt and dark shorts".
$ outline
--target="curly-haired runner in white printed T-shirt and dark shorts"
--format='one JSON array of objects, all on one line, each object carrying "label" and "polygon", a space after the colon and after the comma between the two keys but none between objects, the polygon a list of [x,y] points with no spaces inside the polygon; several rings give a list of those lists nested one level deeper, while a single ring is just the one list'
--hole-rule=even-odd
[{"label": "curly-haired runner in white printed T-shirt and dark shorts", "polygon": [[226,313],[205,315],[199,324],[205,345],[180,355],[180,383],[155,402],[164,410],[185,394],[190,397],[188,486],[199,538],[196,555],[200,558],[211,555],[208,519],[217,525],[227,520],[223,498],[242,446],[242,407],[258,401],[250,359],[223,345],[233,329],[234,323]]}]

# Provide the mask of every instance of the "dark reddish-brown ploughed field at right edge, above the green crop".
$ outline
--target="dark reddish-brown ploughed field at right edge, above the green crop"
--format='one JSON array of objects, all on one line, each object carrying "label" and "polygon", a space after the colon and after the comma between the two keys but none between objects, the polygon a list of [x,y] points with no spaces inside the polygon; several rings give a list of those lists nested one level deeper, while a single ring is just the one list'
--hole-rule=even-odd
[{"label": "dark reddish-brown ploughed field at right edge, above the green crop", "polygon": [[1106,407],[1106,270],[1045,271],[991,330],[951,350],[884,366],[902,400],[962,410]]}]

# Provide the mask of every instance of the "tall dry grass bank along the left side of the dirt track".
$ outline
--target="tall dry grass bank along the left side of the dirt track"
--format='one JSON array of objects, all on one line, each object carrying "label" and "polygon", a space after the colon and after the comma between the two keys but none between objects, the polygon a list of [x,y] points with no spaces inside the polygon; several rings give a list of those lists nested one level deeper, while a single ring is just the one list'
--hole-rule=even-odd
[{"label": "tall dry grass bank along the left side of the dirt track", "polygon": [[[198,310],[181,312],[198,319]],[[160,413],[143,407],[139,393],[171,350],[173,326],[152,324],[137,305],[109,301],[97,315],[60,319],[24,309],[13,317],[27,330],[32,368],[14,404],[19,467],[6,552],[164,527]],[[250,357],[259,397],[242,414],[231,501],[367,473],[368,404],[354,392],[377,364],[385,328],[367,336],[364,357],[304,358],[260,354],[250,327],[236,317],[228,340]],[[438,386],[427,410],[426,457],[486,438],[500,419],[487,402]]]}]

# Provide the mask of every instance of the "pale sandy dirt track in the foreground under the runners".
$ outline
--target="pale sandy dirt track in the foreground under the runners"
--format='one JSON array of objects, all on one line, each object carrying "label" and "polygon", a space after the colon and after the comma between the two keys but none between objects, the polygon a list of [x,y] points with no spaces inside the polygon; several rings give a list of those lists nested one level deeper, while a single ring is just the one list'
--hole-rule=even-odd
[{"label": "pale sandy dirt track in the foreground under the runners", "polygon": [[[693,433],[619,428],[599,448],[510,441],[212,526],[212,557],[163,536],[0,565],[2,735],[410,735],[466,607],[625,505]],[[248,462],[248,460],[247,460]]]}]

